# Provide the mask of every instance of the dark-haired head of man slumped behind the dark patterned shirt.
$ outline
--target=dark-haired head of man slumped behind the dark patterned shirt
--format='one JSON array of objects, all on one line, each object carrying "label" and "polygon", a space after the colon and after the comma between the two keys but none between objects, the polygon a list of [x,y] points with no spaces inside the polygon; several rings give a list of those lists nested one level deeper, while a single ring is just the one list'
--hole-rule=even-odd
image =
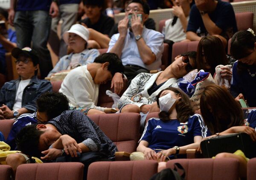
[{"label": "dark-haired head of man slumped behind the dark patterned shirt", "polygon": [[42,94],[37,100],[38,123],[45,123],[59,116],[63,111],[69,110],[69,100],[63,93],[47,92]]}]

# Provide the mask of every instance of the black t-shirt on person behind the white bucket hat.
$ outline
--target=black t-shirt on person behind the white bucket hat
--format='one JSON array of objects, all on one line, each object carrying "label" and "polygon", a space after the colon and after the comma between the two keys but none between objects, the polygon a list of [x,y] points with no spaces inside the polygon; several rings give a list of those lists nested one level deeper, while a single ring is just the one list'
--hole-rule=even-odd
[{"label": "black t-shirt on person behind the white bucket hat", "polygon": [[88,28],[92,28],[92,29],[94,29],[104,35],[108,35],[108,36],[110,34],[112,27],[115,24],[115,21],[112,17],[106,16],[103,14],[100,15],[99,21],[95,24],[92,24],[88,17],[85,18],[84,20],[81,20],[80,22],[85,23]]}]

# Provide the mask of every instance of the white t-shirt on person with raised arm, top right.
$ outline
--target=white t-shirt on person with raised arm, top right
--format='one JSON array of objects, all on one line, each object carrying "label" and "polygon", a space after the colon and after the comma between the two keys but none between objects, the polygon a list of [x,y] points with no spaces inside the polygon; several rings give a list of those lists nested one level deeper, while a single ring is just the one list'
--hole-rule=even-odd
[{"label": "white t-shirt on person with raised arm, top right", "polygon": [[[186,17],[187,21],[189,22],[189,16]],[[183,26],[181,24],[180,18],[177,19],[175,25],[172,26],[173,18],[166,20],[165,22],[165,38],[167,40],[171,40],[173,42],[180,42],[186,39],[186,32],[184,32]]]}]

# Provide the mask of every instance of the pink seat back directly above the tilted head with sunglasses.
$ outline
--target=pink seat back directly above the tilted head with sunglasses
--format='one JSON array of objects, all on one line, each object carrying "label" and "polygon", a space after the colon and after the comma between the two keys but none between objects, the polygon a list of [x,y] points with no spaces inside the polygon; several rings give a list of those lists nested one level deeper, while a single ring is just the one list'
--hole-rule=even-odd
[{"label": "pink seat back directly above the tilted head with sunglasses", "polygon": [[179,42],[172,45],[172,62],[177,55],[188,51],[197,51],[199,41]]}]

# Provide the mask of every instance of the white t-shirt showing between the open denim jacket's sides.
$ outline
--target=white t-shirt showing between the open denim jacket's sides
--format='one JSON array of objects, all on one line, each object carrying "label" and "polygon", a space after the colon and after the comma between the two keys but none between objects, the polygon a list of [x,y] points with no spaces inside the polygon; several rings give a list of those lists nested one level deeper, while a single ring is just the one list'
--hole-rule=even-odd
[{"label": "white t-shirt showing between the open denim jacket's sides", "polygon": [[19,87],[16,91],[16,96],[15,96],[15,102],[13,105],[12,110],[19,110],[21,108],[21,102],[22,102],[22,95],[25,87],[29,85],[31,79],[26,79],[26,80],[21,80]]}]

